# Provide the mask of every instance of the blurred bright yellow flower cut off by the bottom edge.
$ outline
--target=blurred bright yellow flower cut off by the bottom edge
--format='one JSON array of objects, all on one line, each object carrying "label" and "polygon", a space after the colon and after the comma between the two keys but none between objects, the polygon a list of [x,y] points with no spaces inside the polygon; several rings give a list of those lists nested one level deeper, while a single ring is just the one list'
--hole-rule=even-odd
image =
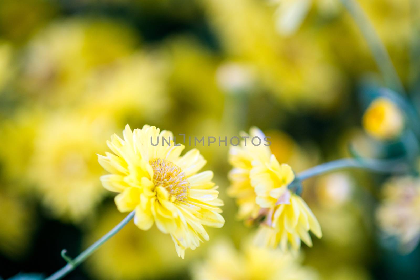
[{"label": "blurred bright yellow flower cut off by the bottom edge", "polygon": [[203,263],[192,269],[193,280],[312,280],[318,274],[299,259],[280,250],[260,248],[251,242],[236,251],[232,243],[219,241]]}]

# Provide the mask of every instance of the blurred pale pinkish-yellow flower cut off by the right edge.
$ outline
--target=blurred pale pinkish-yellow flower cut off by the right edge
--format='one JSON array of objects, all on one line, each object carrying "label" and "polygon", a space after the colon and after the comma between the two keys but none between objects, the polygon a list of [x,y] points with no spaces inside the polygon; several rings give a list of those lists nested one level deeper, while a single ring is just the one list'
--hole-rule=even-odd
[{"label": "blurred pale pinkish-yellow flower cut off by the right edge", "polygon": [[398,238],[401,249],[409,253],[420,240],[420,179],[391,178],[383,186],[382,194],[376,212],[379,226],[389,236]]}]

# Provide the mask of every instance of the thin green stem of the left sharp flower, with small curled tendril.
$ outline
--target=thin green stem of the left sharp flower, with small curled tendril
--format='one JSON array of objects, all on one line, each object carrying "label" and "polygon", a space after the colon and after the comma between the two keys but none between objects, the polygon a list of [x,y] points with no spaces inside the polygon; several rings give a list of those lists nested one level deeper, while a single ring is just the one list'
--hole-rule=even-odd
[{"label": "thin green stem of the left sharp flower, with small curled tendril", "polygon": [[[66,276],[68,273],[73,271],[79,264],[84,262],[90,255],[92,255],[103,243],[105,243],[109,238],[113,237],[115,233],[121,230],[125,225],[129,223],[129,221],[134,217],[135,212],[131,212],[127,217],[124,218],[118,225],[115,226],[112,230],[110,230],[107,234],[102,236],[98,241],[93,243],[89,248],[81,252],[79,256],[77,256],[73,260],[66,260],[67,264],[55,272],[50,277],[46,278],[45,280],[58,280]],[[65,254],[66,252],[62,253]]]}]

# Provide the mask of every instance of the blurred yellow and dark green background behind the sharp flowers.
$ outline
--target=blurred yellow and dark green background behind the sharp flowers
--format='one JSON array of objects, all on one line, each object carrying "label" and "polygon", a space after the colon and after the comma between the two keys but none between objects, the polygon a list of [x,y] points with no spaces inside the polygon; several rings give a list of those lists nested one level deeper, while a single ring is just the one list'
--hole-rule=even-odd
[{"label": "blurred yellow and dark green background behind the sharp flowers", "polygon": [[[0,1],[1,277],[49,275],[65,264],[61,249],[76,256],[123,219],[96,153],[126,123],[199,138],[258,126],[297,172],[349,156],[349,143],[370,157],[401,153],[361,128],[383,80],[339,1],[306,1],[292,26],[272,2]],[[418,101],[416,2],[359,1]],[[169,236],[130,223],[66,279],[197,279],[215,243],[240,248],[254,228],[226,195],[228,147],[199,149],[226,204],[209,242],[181,260]],[[402,254],[374,219],[385,179],[343,171],[305,182],[324,236],[301,258],[319,279],[418,279],[420,249]]]}]

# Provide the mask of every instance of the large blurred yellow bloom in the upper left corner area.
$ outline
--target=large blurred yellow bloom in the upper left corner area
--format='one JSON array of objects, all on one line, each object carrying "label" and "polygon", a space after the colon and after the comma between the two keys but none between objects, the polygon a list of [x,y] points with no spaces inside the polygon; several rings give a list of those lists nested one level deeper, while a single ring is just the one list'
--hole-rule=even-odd
[{"label": "large blurred yellow bloom in the upper left corner area", "polygon": [[77,103],[91,75],[105,72],[118,59],[131,55],[136,41],[127,26],[109,20],[54,22],[26,48],[21,92],[52,106]]}]

